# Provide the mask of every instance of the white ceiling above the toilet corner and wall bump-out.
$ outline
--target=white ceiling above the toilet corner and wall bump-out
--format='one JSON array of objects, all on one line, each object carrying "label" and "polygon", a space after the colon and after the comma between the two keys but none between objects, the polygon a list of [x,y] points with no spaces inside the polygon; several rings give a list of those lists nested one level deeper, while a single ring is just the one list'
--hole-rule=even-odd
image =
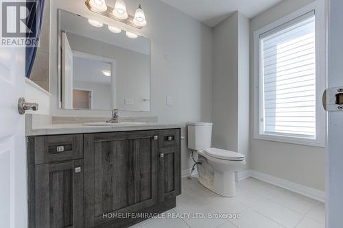
[{"label": "white ceiling above the toilet corner and wall bump-out", "polygon": [[248,18],[257,16],[282,0],[161,0],[168,5],[214,27],[236,10]]}]

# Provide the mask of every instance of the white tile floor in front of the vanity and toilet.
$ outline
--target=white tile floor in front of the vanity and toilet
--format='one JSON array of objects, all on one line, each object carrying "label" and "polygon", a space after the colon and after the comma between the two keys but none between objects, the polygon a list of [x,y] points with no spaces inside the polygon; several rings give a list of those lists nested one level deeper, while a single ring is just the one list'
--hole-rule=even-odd
[{"label": "white tile floor in front of the vanity and toilet", "polygon": [[[205,218],[150,218],[133,227],[324,228],[325,222],[323,203],[253,178],[237,183],[234,198],[214,194],[195,178],[182,179],[177,207],[167,213],[193,212],[203,213]],[[239,214],[240,218],[209,218],[209,213]]]}]

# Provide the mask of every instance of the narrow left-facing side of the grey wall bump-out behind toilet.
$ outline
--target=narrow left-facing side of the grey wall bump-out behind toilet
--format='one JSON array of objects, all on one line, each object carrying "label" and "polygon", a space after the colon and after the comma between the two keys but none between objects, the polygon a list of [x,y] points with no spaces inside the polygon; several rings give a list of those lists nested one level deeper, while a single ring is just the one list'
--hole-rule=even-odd
[{"label": "narrow left-facing side of the grey wall bump-out behind toilet", "polygon": [[213,29],[213,146],[237,151],[238,12]]}]

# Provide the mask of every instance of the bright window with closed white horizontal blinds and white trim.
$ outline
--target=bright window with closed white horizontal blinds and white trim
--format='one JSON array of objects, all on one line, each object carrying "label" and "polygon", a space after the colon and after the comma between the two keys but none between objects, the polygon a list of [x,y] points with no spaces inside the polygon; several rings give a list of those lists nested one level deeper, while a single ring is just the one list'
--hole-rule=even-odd
[{"label": "bright window with closed white horizontal blinds and white trim", "polygon": [[322,146],[316,21],[307,9],[255,31],[255,138]]}]

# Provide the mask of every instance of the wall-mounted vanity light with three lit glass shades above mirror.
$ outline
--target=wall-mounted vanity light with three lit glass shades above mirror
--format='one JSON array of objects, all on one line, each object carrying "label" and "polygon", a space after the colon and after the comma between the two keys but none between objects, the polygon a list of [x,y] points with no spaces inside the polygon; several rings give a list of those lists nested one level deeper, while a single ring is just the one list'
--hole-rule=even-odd
[{"label": "wall-mounted vanity light with three lit glass shades above mirror", "polygon": [[107,18],[111,18],[115,21],[119,21],[137,29],[141,29],[147,25],[145,14],[141,5],[139,5],[136,13],[133,16],[128,14],[125,2],[123,0],[117,0],[115,2],[115,8],[106,5],[106,10],[104,10],[104,6],[101,8],[99,7],[100,3],[104,3],[104,5],[106,5],[105,0],[86,0],[85,2],[88,10],[96,12],[102,16],[106,16]]}]

